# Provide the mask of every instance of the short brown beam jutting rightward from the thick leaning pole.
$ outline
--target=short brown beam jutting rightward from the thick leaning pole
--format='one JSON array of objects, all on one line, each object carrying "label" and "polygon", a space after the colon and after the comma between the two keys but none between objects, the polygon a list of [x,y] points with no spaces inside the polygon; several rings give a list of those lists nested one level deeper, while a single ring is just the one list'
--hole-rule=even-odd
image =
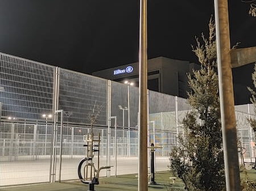
[{"label": "short brown beam jutting rightward from the thick leaning pole", "polygon": [[231,66],[239,67],[256,62],[256,46],[230,50]]}]

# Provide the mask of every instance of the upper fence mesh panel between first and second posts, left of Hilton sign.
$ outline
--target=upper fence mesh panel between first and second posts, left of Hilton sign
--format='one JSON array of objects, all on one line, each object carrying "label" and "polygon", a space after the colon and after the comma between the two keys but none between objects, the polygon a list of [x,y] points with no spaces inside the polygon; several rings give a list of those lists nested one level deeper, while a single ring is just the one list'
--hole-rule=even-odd
[{"label": "upper fence mesh panel between first and second posts, left of Hilton sign", "polygon": [[90,118],[98,113],[94,125],[106,125],[107,80],[60,69],[59,108],[64,111],[64,121],[90,124]]}]

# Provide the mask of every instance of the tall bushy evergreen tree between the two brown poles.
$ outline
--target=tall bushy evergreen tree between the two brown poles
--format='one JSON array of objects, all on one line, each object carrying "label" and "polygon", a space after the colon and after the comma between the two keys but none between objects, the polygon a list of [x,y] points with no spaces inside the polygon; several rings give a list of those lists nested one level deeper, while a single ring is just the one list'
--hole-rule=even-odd
[{"label": "tall bushy evergreen tree between the two brown poles", "polygon": [[215,26],[209,22],[208,38],[202,33],[192,51],[201,69],[188,74],[192,111],[183,120],[184,139],[170,154],[170,169],[189,191],[225,190],[224,155],[218,99]]}]

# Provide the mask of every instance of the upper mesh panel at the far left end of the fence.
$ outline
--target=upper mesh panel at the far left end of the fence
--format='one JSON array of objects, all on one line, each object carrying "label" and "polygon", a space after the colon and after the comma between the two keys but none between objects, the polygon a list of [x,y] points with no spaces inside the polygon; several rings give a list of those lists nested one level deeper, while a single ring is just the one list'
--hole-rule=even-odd
[{"label": "upper mesh panel at the far left end of the fence", "polygon": [[55,67],[0,53],[2,117],[40,119],[53,111]]}]

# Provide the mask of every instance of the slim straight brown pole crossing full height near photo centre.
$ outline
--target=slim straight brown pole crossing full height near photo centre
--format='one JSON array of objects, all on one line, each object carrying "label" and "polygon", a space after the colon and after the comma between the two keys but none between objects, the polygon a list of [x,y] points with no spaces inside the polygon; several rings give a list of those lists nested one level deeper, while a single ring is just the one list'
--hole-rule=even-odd
[{"label": "slim straight brown pole crossing full height near photo centre", "polygon": [[147,0],[140,0],[139,22],[139,180],[147,191]]}]

